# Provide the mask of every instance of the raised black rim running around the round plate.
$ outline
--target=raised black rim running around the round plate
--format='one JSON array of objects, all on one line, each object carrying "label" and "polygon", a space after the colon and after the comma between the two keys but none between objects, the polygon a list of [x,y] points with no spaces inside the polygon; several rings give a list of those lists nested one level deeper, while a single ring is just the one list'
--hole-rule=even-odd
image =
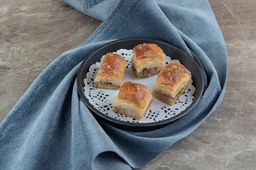
[{"label": "raised black rim running around the round plate", "polygon": [[[179,113],[179,114],[177,114],[177,115],[175,115],[175,116],[173,116],[171,118],[168,118],[168,119],[165,119],[165,120],[161,120],[161,121],[157,121],[157,122],[137,123],[137,122],[125,122],[125,121],[121,121],[121,120],[112,118],[111,116],[107,116],[104,113],[102,113],[101,111],[98,111],[93,105],[90,104],[89,100],[84,95],[84,90],[83,90],[84,88],[82,88],[82,89],[80,88],[81,84],[83,85],[82,87],[84,87],[84,80],[81,79],[81,74],[82,74],[82,70],[84,68],[85,63],[87,62],[88,59],[90,59],[90,57],[93,56],[93,54],[95,54],[97,51],[101,50],[102,48],[105,48],[106,46],[115,44],[117,42],[129,41],[129,40],[145,40],[145,41],[148,40],[148,41],[154,41],[154,42],[161,42],[161,43],[167,44],[169,46],[172,46],[173,48],[176,48],[178,51],[180,51],[181,53],[185,54],[187,57],[189,57],[190,60],[192,60],[192,62],[196,66],[198,74],[199,74],[199,79],[200,79],[201,83],[200,83],[200,87],[198,87],[198,88],[201,89],[201,91],[199,92],[198,99],[196,99],[195,102],[193,100],[194,103],[192,102],[192,104],[189,105],[190,108],[186,112],[182,111],[181,113]],[[169,42],[166,42],[166,41],[163,41],[163,40],[151,39],[151,38],[124,38],[124,39],[114,40],[114,41],[108,42],[108,43],[106,43],[104,45],[101,45],[100,47],[98,47],[98,48],[94,49],[92,52],[90,52],[90,54],[88,54],[84,58],[84,60],[82,61],[81,65],[79,67],[79,71],[77,73],[77,77],[76,78],[77,78],[77,81],[76,81],[76,83],[77,83],[77,90],[79,92],[79,95],[81,96],[81,98],[82,98],[83,102],[85,103],[85,105],[88,108],[90,108],[91,111],[96,113],[102,119],[110,121],[113,124],[118,124],[119,126],[129,126],[129,127],[152,127],[152,126],[168,125],[168,124],[174,122],[175,120],[179,119],[180,117],[184,116],[189,111],[191,111],[191,109],[194,108],[195,105],[198,103],[199,99],[201,99],[201,96],[202,96],[202,93],[203,93],[203,90],[204,90],[204,88],[203,88],[204,87],[203,73],[202,73],[201,68],[199,67],[198,63],[195,61],[195,59],[190,54],[188,54],[183,49],[181,49],[181,48],[177,47],[176,45],[173,45],[173,44],[171,44]]]}]

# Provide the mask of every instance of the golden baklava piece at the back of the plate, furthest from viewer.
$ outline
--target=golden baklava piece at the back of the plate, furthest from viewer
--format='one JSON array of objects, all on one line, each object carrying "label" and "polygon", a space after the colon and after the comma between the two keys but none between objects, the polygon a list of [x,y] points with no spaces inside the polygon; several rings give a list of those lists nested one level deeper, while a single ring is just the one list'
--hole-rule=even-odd
[{"label": "golden baklava piece at the back of the plate, furthest from viewer", "polygon": [[154,76],[165,66],[163,50],[156,44],[137,45],[132,53],[131,68],[138,78]]}]

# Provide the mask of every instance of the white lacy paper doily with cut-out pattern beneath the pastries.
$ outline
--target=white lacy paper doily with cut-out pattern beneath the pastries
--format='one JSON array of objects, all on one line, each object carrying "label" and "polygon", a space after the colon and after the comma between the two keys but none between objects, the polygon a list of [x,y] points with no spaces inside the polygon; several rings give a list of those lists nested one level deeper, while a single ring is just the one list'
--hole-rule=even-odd
[{"label": "white lacy paper doily with cut-out pattern beneath the pastries", "polygon": [[[125,76],[124,82],[135,82],[143,85],[147,85],[151,90],[155,85],[155,80],[157,75],[146,78],[146,79],[138,79],[131,69],[131,57],[132,50],[120,49],[116,52],[122,57],[124,57],[127,61],[127,66],[125,68]],[[102,56],[102,59],[105,56]],[[179,60],[172,60],[170,57],[166,56],[166,64],[169,62],[177,62],[180,63]],[[101,61],[102,61],[101,59]],[[89,68],[89,72],[86,74],[86,79],[84,79],[84,95],[89,100],[90,104],[92,104],[96,109],[105,115],[111,116],[115,119],[125,121],[125,122],[134,122],[134,123],[149,123],[149,122],[157,122],[161,120],[165,120],[171,118],[182,111],[184,111],[189,105],[191,105],[193,101],[193,94],[195,92],[195,87],[192,85],[193,80],[191,79],[189,82],[189,86],[186,89],[186,94],[181,95],[180,99],[175,102],[174,105],[170,106],[161,102],[160,100],[153,97],[153,101],[145,113],[144,117],[141,120],[133,119],[128,116],[124,116],[112,111],[113,101],[118,93],[118,90],[103,90],[99,88],[95,88],[94,78],[96,77],[97,71],[99,69],[100,62],[96,62],[91,65]],[[190,75],[191,76],[191,75]]]}]

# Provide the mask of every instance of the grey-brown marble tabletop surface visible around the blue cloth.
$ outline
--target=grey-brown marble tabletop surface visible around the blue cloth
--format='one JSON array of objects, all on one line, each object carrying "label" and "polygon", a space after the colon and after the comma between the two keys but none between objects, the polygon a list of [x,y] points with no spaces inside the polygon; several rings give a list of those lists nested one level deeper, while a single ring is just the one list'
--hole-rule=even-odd
[{"label": "grey-brown marble tabletop surface visible around the blue cloth", "polygon": [[[256,2],[209,0],[229,61],[222,104],[142,170],[255,170]],[[61,0],[1,0],[0,122],[33,80],[101,22]]]}]

